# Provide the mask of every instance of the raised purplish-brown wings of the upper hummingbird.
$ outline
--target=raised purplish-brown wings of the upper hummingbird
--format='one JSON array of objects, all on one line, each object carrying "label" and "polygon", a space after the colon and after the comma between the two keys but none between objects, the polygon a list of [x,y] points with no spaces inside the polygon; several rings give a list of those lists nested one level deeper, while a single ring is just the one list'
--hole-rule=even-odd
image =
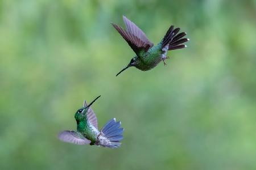
[{"label": "raised purplish-brown wings of the upper hummingbird", "polygon": [[139,56],[142,50],[147,52],[147,50],[154,45],[147,39],[145,33],[125,16],[123,16],[123,22],[125,22],[126,30],[116,24],[112,23],[112,25],[117,29],[123,39],[126,40],[137,56]]}]

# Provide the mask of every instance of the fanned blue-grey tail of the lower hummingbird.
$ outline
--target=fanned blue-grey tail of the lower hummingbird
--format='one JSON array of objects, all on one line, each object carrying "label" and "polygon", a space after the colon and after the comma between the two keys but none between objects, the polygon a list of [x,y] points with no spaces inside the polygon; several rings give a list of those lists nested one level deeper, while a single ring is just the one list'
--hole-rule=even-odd
[{"label": "fanned blue-grey tail of the lower hummingbird", "polygon": [[123,128],[120,128],[121,122],[115,121],[115,118],[109,120],[104,127],[101,129],[101,133],[104,134],[110,142],[104,145],[105,147],[117,148],[121,146],[121,140],[123,139]]}]

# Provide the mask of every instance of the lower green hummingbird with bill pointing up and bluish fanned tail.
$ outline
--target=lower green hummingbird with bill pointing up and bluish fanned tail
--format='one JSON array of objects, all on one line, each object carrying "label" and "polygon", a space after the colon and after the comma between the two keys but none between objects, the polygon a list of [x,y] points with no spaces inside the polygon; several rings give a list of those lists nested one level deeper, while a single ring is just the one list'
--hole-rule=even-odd
[{"label": "lower green hummingbird with bill pointing up and bluish fanned tail", "polygon": [[73,143],[76,145],[97,145],[103,147],[117,148],[121,146],[123,139],[123,128],[120,128],[121,122],[115,121],[115,118],[109,120],[101,130],[98,130],[97,117],[90,106],[100,96],[96,97],[89,105],[84,100],[82,108],[75,113],[77,130],[61,131],[58,135],[60,141]]}]

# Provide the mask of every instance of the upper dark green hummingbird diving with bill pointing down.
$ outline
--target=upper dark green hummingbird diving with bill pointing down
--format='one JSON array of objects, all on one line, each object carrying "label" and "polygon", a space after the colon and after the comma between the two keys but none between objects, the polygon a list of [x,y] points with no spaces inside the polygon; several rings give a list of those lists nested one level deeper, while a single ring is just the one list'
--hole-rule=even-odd
[{"label": "upper dark green hummingbird diving with bill pointing down", "polygon": [[123,22],[125,22],[126,30],[114,23],[112,25],[134,50],[136,56],[118,74],[131,66],[147,71],[158,65],[160,61],[166,65],[164,60],[168,58],[166,56],[167,51],[185,48],[186,45],[183,43],[189,41],[189,39],[183,38],[187,33],[177,34],[180,28],[174,28],[174,25],[171,25],[162,41],[154,45],[147,39],[145,33],[125,16],[123,16]]}]

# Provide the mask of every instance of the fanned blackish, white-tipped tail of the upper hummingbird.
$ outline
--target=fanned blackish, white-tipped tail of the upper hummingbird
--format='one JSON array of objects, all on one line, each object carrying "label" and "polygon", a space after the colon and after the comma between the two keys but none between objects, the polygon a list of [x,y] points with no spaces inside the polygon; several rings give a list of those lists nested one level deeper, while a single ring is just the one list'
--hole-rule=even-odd
[{"label": "fanned blackish, white-tipped tail of the upper hummingbird", "polygon": [[181,49],[185,48],[186,45],[184,45],[184,42],[189,41],[187,38],[183,38],[187,33],[181,32],[177,34],[180,31],[180,28],[175,28],[174,25],[171,25],[171,27],[166,32],[166,35],[164,36],[162,40],[162,49],[165,48],[168,45],[168,50],[175,50],[175,49]]}]

